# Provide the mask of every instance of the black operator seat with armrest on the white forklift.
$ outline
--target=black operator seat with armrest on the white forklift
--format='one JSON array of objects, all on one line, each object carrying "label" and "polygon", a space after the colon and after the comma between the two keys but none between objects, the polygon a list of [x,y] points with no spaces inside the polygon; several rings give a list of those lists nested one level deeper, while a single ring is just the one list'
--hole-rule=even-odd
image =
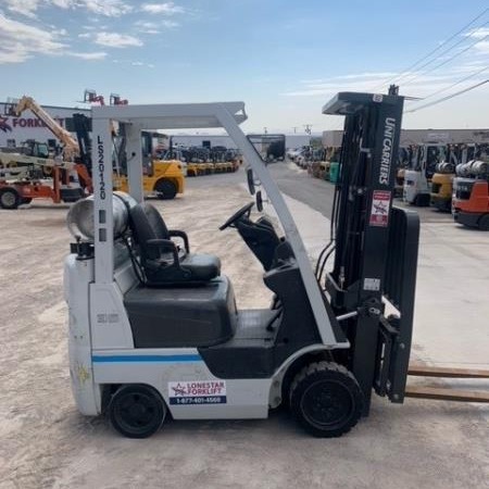
[{"label": "black operator seat with armrest on the white forklift", "polygon": [[[153,205],[138,203],[129,215],[148,286],[206,283],[221,275],[220,259],[213,254],[190,253],[186,233],[170,230]],[[181,238],[185,249],[179,249],[172,237]]]}]

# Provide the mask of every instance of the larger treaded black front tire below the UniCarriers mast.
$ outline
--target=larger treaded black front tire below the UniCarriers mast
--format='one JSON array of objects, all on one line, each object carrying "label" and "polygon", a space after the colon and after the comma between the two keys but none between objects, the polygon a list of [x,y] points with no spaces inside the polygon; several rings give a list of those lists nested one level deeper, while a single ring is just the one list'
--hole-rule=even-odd
[{"label": "larger treaded black front tire below the UniCarriers mast", "polygon": [[362,415],[362,390],[353,374],[336,363],[306,365],[293,379],[289,397],[296,419],[318,438],[340,437]]}]

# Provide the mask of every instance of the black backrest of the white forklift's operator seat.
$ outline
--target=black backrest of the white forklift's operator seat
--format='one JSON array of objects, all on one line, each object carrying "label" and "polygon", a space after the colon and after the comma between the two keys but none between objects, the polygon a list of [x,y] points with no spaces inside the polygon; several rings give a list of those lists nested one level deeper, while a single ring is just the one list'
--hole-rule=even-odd
[{"label": "black backrest of the white forklift's operator seat", "polygon": [[150,239],[170,239],[168,228],[160,212],[150,203],[138,203],[130,210],[129,223],[142,258],[147,260],[160,258],[158,247],[148,247],[146,244]]}]

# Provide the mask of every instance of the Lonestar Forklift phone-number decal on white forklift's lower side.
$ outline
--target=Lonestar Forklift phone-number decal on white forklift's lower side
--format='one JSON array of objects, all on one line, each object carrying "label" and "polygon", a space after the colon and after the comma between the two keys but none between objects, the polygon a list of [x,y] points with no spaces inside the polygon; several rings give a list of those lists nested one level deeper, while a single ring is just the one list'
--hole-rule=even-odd
[{"label": "Lonestar Forklift phone-number decal on white forklift's lower side", "polygon": [[171,404],[226,404],[226,381],[168,383]]}]

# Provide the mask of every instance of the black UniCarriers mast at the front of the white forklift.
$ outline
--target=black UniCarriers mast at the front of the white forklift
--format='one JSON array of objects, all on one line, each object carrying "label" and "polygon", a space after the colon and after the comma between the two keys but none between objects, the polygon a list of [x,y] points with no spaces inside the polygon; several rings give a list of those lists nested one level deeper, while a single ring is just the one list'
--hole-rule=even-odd
[{"label": "black UniCarriers mast at the front of the white forklift", "polygon": [[[352,346],[344,359],[367,401],[402,402],[411,349],[417,214],[392,208],[403,98],[340,92],[324,114],[344,115],[326,290]],[[386,299],[396,312],[386,316]],[[365,403],[367,414],[369,402]]]}]

